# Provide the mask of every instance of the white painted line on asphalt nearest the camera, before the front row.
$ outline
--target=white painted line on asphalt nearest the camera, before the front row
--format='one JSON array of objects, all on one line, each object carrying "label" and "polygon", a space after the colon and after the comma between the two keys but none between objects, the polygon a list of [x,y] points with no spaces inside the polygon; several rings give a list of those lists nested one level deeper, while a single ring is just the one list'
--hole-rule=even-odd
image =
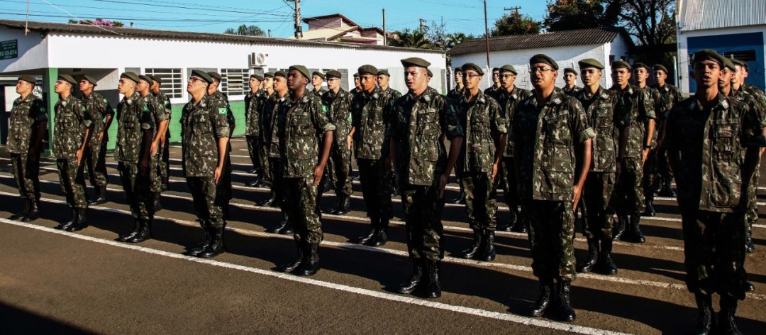
[{"label": "white painted line on asphalt nearest the camera, before the front row", "polygon": [[180,260],[184,260],[184,261],[191,261],[191,262],[195,262],[195,263],[208,264],[208,265],[217,266],[219,268],[228,268],[228,269],[231,269],[231,270],[245,271],[245,272],[250,272],[250,273],[253,273],[253,274],[260,274],[260,275],[269,276],[269,277],[273,277],[273,278],[279,278],[279,279],[283,279],[283,280],[286,280],[286,281],[294,281],[294,282],[301,283],[301,284],[309,284],[309,285],[314,285],[314,286],[319,286],[319,287],[325,287],[325,288],[329,288],[329,289],[336,290],[336,291],[342,291],[342,292],[348,292],[348,293],[353,293],[353,294],[359,294],[359,295],[364,295],[364,296],[367,296],[367,297],[376,297],[376,298],[384,299],[384,300],[387,300],[387,301],[396,301],[396,302],[400,302],[400,303],[404,303],[404,304],[413,304],[413,305],[418,305],[418,306],[431,307],[431,308],[436,308],[436,309],[439,309],[439,310],[447,310],[447,311],[450,311],[450,312],[456,312],[456,313],[460,313],[460,314],[469,314],[469,315],[473,315],[473,316],[476,316],[476,317],[486,317],[486,318],[489,318],[489,319],[510,321],[510,322],[513,322],[513,323],[516,323],[516,324],[525,324],[525,325],[529,325],[529,326],[533,326],[533,327],[541,327],[541,328],[547,328],[547,329],[552,329],[552,330],[564,330],[564,331],[569,331],[569,332],[572,332],[572,333],[581,333],[581,334],[615,334],[615,335],[616,334],[621,334],[621,333],[614,332],[614,331],[611,331],[611,330],[601,330],[601,329],[597,329],[597,328],[577,326],[577,325],[574,325],[574,324],[564,324],[564,323],[553,322],[553,321],[549,321],[549,320],[533,319],[531,317],[522,317],[522,316],[519,316],[519,315],[516,315],[516,314],[499,313],[499,312],[493,312],[491,310],[481,310],[481,309],[472,308],[472,307],[450,305],[450,304],[438,303],[438,302],[435,302],[435,301],[426,301],[426,300],[423,300],[423,299],[419,299],[417,297],[404,296],[404,295],[398,295],[398,294],[389,294],[389,293],[385,293],[385,292],[381,292],[381,291],[367,290],[365,288],[360,288],[360,287],[352,287],[352,286],[343,285],[343,284],[331,283],[331,282],[328,282],[328,281],[319,281],[319,280],[316,280],[316,279],[299,277],[299,276],[296,276],[296,275],[293,275],[293,274],[284,274],[284,273],[281,273],[281,272],[268,271],[268,270],[264,270],[264,269],[260,269],[260,268],[251,268],[251,267],[247,267],[247,266],[244,266],[244,265],[226,263],[226,262],[223,262],[223,261],[214,261],[214,260],[211,260],[211,259],[196,258],[196,257],[192,257],[192,256],[175,254],[175,253],[168,252],[168,251],[162,251],[162,250],[156,250],[156,249],[152,249],[152,248],[146,248],[146,247],[142,247],[142,246],[139,246],[139,245],[129,245],[129,244],[120,243],[120,242],[117,242],[117,241],[110,241],[110,240],[106,240],[106,239],[103,239],[103,238],[93,238],[93,237],[90,237],[90,236],[87,236],[87,235],[80,235],[80,234],[71,233],[71,232],[61,232],[61,231],[56,230],[54,228],[42,227],[42,226],[39,226],[39,225],[31,225],[31,224],[28,224],[28,223],[25,223],[25,222],[15,222],[15,221],[11,221],[11,220],[8,220],[8,219],[5,219],[5,218],[0,218],[0,222],[3,222],[3,223],[8,224],[8,225],[17,225],[17,226],[21,226],[21,227],[25,227],[25,228],[32,228],[32,229],[36,229],[36,230],[39,230],[39,231],[42,231],[42,232],[49,232],[49,233],[54,233],[54,234],[57,234],[57,235],[64,235],[64,236],[68,236],[68,237],[71,237],[71,238],[79,238],[79,239],[84,240],[84,241],[91,241],[91,242],[101,243],[103,245],[110,245],[110,246],[118,247],[118,248],[126,248],[126,249],[133,250],[133,251],[141,251],[141,252],[145,252],[145,253],[151,254],[151,255],[158,255],[158,256],[167,257],[167,258],[175,258],[175,259],[180,259]]}]

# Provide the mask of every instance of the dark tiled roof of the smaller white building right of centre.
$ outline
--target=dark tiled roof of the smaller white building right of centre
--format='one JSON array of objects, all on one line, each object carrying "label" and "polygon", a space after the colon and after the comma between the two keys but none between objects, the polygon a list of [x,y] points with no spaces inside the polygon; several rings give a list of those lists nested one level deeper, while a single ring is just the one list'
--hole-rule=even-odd
[{"label": "dark tiled roof of the smaller white building right of centre", "polygon": [[[489,38],[489,51],[512,51],[568,47],[572,45],[604,44],[614,41],[617,34],[624,34],[628,43],[632,43],[624,30],[601,28],[556,31],[543,34],[523,34]],[[484,38],[466,40],[447,51],[447,54],[477,54],[486,52]]]}]

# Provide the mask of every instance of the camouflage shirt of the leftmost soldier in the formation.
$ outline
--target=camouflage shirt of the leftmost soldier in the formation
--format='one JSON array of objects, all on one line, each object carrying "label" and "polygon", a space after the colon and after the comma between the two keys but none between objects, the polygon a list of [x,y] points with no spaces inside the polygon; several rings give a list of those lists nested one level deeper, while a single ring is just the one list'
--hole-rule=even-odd
[{"label": "camouflage shirt of the leftmost soldier in the formation", "polygon": [[13,100],[11,120],[8,122],[8,153],[29,153],[37,136],[38,124],[47,122],[43,100],[34,94]]}]

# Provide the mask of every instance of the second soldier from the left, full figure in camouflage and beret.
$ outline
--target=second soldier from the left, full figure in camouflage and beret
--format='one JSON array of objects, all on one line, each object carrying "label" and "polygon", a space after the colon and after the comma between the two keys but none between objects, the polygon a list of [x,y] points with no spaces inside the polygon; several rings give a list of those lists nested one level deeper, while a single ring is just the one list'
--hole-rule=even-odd
[{"label": "second soldier from the left, full figure in camouflage and beret", "polygon": [[93,132],[93,121],[80,100],[72,96],[75,84],[77,81],[72,76],[61,74],[54,87],[59,100],[54,107],[53,156],[56,158],[61,191],[67,195],[67,205],[72,210],[72,219],[56,228],[67,232],[77,232],[88,226],[83,155]]}]

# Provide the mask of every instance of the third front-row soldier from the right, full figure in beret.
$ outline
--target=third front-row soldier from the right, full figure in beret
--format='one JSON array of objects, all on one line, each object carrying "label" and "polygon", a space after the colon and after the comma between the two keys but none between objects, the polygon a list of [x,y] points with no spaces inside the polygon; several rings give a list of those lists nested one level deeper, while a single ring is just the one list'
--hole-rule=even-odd
[{"label": "third front-row soldier from the right, full figure in beret", "polygon": [[[401,60],[401,64],[409,92],[394,103],[387,135],[391,139],[389,159],[402,194],[407,247],[414,272],[398,292],[411,294],[424,287],[426,297],[440,297],[444,186],[460,154],[463,129],[447,98],[428,87],[430,63],[413,57]],[[450,141],[449,156],[442,136]]]}]

